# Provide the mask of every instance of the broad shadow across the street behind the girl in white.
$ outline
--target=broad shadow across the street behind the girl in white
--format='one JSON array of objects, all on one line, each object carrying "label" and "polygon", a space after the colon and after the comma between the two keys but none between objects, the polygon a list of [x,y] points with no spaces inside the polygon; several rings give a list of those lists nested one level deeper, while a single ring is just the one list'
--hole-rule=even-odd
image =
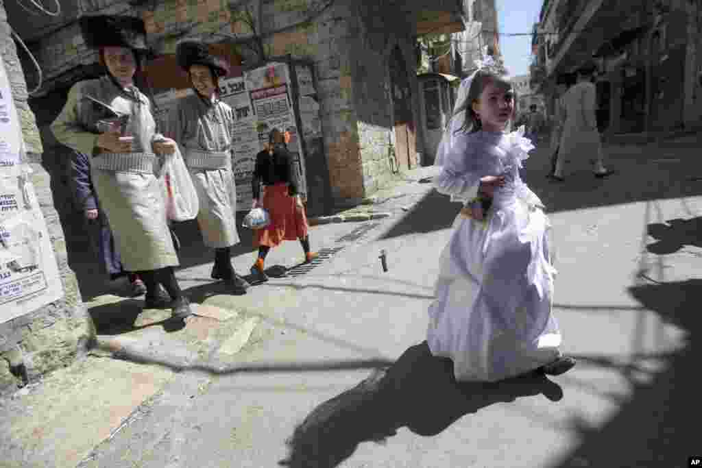
[{"label": "broad shadow across the street behind the girl in white", "polygon": [[[566,182],[552,182],[546,178],[550,154],[545,147],[531,153],[522,178],[541,198],[547,214],[702,195],[702,166],[696,145],[613,145],[605,153],[607,166],[616,171],[609,178],[597,179],[587,164],[573,162]],[[448,196],[432,190],[382,239],[447,229],[460,208],[460,203],[451,203]]]}]

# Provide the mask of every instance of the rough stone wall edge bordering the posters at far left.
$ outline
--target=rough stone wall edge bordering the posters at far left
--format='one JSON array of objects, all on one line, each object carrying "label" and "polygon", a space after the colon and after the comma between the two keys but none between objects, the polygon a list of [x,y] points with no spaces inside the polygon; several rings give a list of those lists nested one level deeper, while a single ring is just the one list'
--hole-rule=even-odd
[{"label": "rough stone wall edge bordering the posters at far left", "polygon": [[25,316],[0,323],[0,394],[66,366],[85,351],[95,331],[81,301],[76,277],[69,269],[65,239],[51,195],[51,181],[41,166],[43,152],[34,114],[27,104],[25,73],[10,36],[4,5],[0,4],[0,52],[20,114],[22,136],[27,145],[25,160],[34,173],[32,183],[46,219],[65,290],[62,300]]}]

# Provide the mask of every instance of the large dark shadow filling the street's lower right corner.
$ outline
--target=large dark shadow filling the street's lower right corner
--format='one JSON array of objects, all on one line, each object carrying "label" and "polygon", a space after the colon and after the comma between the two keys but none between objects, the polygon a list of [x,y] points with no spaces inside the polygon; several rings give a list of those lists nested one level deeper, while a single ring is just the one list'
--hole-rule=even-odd
[{"label": "large dark shadow filling the street's lower right corner", "polygon": [[579,428],[583,443],[559,468],[582,466],[576,460],[590,467],[683,467],[687,457],[699,455],[702,354],[695,339],[702,325],[702,280],[635,286],[629,292],[663,321],[687,331],[687,347],[662,355],[665,370],[654,373],[651,382],[632,381],[631,399],[604,427]]}]

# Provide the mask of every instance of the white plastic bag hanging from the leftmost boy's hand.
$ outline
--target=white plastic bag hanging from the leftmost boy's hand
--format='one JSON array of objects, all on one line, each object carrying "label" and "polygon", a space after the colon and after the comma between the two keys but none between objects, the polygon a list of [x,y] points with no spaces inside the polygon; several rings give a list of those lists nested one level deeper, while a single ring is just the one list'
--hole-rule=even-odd
[{"label": "white plastic bag hanging from the leftmost boy's hand", "polygon": [[171,221],[197,218],[200,208],[197,192],[178,147],[173,154],[166,154],[160,180],[164,188],[166,217]]}]

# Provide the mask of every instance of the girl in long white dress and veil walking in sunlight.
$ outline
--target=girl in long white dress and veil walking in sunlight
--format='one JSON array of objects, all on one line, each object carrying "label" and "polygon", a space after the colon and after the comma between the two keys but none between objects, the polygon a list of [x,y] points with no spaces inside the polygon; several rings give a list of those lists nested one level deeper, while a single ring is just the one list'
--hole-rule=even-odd
[{"label": "girl in long white dress and veil walking in sunlight", "polygon": [[523,128],[505,133],[513,95],[489,67],[465,79],[437,154],[437,191],[465,208],[442,253],[428,345],[453,360],[459,382],[558,375],[575,365],[559,351],[551,312],[548,218],[519,177],[534,146]]}]

